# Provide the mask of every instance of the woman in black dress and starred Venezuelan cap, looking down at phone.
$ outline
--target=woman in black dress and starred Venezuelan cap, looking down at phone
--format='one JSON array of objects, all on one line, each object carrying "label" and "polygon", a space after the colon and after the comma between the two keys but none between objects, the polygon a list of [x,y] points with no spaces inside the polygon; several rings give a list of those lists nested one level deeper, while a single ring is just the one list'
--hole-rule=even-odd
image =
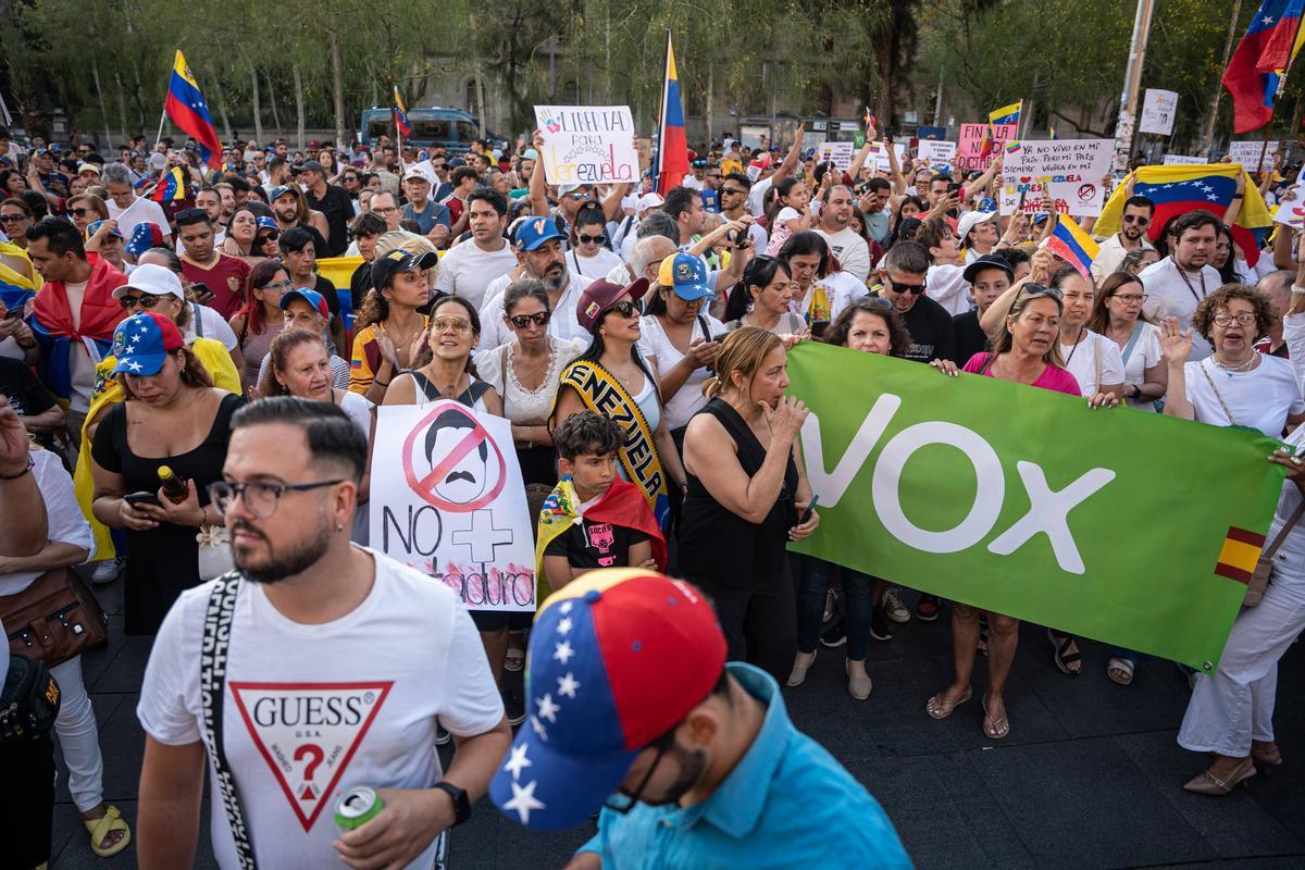
[{"label": "woman in black dress and starred Venezuelan cap, looking down at phone", "polygon": [[[125,633],[155,634],[176,597],[200,583],[197,532],[223,524],[207,485],[222,480],[231,415],[244,399],[213,386],[162,314],[124,320],[114,347],[125,400],[103,415],[91,442],[93,511],[127,532]],[[185,481],[181,503],[163,496],[161,466]]]}]

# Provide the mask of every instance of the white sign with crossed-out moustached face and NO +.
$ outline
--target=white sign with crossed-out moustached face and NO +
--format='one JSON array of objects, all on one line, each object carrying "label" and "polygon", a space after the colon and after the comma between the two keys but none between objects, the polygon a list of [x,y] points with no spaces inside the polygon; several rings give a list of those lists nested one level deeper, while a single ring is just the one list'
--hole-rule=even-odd
[{"label": "white sign with crossed-out moustached face and NO +", "polygon": [[377,408],[371,543],[472,610],[535,609],[535,541],[512,424],[452,400]]}]

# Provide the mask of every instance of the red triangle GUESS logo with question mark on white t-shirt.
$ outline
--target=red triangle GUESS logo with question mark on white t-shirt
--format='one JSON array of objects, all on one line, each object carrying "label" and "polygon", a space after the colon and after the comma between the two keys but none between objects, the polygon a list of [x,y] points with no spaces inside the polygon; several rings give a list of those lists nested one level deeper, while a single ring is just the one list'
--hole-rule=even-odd
[{"label": "red triangle GUESS logo with question mark on white t-shirt", "polygon": [[394,682],[228,685],[254,746],[309,831]]}]

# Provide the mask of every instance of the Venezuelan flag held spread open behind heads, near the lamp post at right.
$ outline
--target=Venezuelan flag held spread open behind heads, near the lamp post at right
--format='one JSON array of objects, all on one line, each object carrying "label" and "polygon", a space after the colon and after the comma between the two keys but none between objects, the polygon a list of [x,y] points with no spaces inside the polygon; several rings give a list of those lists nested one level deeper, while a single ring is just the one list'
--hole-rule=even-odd
[{"label": "Venezuelan flag held spread open behind heads, near the lamp post at right", "polygon": [[[1188,211],[1212,211],[1215,217],[1223,219],[1237,193],[1237,176],[1241,171],[1242,167],[1237,163],[1139,167],[1111,193],[1101,215],[1096,219],[1094,232],[1099,239],[1105,239],[1120,231],[1124,201],[1129,198],[1129,181],[1133,181],[1135,196],[1155,202],[1155,215],[1147,227],[1147,235],[1152,240],[1160,237],[1172,218]],[[1245,185],[1242,197],[1237,220],[1232,226],[1232,237],[1245,252],[1246,262],[1254,266],[1259,260],[1255,231],[1270,226],[1272,217],[1254,184]]]}]

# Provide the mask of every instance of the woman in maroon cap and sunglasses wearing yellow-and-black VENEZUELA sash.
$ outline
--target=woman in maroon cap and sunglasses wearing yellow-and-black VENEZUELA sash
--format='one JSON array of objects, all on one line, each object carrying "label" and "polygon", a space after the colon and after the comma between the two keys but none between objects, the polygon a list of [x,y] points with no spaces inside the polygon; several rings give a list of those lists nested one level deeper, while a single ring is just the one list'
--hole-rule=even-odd
[{"label": "woman in maroon cap and sunglasses wearing yellow-and-black VENEZUELA sash", "polygon": [[668,485],[684,488],[684,466],[662,413],[656,373],[639,356],[639,309],[636,299],[647,279],[621,287],[595,280],[576,304],[579,325],[594,337],[589,350],[562,370],[548,416],[552,433],[566,417],[594,411],[625,429],[619,450],[621,476],[643,490],[663,532],[671,522]]}]

